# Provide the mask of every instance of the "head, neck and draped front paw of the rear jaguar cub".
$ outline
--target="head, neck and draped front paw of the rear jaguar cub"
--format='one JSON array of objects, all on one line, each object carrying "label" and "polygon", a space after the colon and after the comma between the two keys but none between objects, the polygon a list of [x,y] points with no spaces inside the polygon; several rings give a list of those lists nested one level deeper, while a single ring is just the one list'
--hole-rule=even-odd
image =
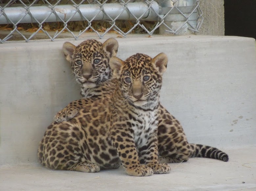
[{"label": "head, neck and draped front paw of the rear jaguar cub", "polygon": [[[63,44],[63,53],[70,62],[74,77],[81,87],[82,97],[99,98],[104,96],[103,91],[107,93],[113,89],[113,87],[105,89],[102,85],[112,78],[109,60],[116,56],[117,51],[118,42],[114,38],[109,38],[104,43],[88,39],[78,46],[69,42]],[[82,101],[70,103],[67,108],[58,112],[54,120],[59,123],[65,119],[72,119],[82,106]]]}]

